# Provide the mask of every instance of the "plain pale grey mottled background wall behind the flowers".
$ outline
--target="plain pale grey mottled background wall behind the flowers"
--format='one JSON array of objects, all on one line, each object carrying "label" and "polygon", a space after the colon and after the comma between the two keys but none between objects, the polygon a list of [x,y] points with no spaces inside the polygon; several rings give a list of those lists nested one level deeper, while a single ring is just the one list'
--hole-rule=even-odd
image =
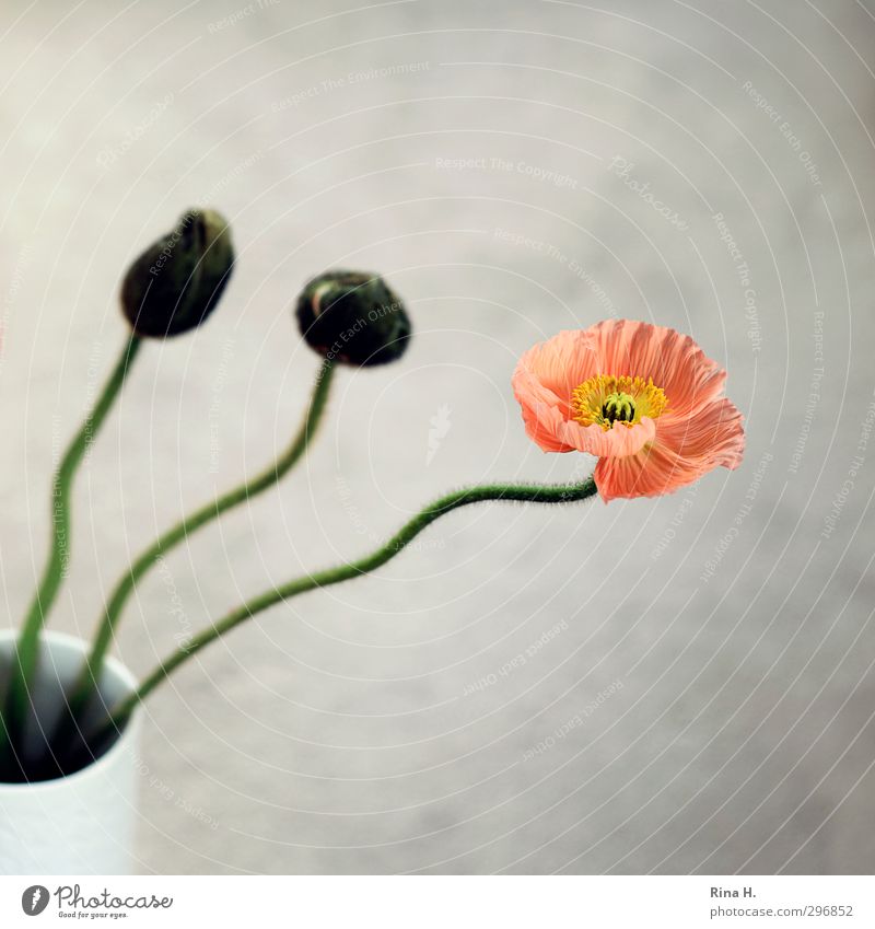
[{"label": "plain pale grey mottled background wall behind the flowers", "polygon": [[445,488],[579,474],[509,384],[559,328],[689,332],[746,416],[735,473],[456,513],[186,666],[144,711],[143,871],[872,871],[875,16],[602,5],[4,4],[9,623],[124,339],[120,274],[191,202],[231,218],[240,266],[208,326],[138,361],[77,485],[58,628],[91,629],[133,553],[284,444],[307,276],[384,272],[417,337],[342,372],[294,478],[142,585],[117,649],[138,672]]}]

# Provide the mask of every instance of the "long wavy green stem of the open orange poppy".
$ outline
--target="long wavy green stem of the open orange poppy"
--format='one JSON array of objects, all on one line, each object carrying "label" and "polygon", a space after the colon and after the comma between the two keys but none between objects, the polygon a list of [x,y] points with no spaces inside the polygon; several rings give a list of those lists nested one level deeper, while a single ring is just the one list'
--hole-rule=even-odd
[{"label": "long wavy green stem of the open orange poppy", "polygon": [[203,629],[188,642],[171,653],[142,682],[137,690],[110,710],[108,718],[95,733],[95,739],[93,741],[89,740],[90,744],[97,744],[102,739],[110,735],[114,731],[120,730],[128,721],[137,706],[144,700],[159,684],[179,667],[180,664],[197,654],[211,642],[214,642],[221,636],[230,632],[235,626],[238,626],[241,623],[245,623],[247,619],[250,619],[253,616],[261,613],[270,606],[282,601],[290,600],[299,594],[306,593],[307,591],[315,590],[316,588],[325,588],[331,584],[337,584],[341,581],[347,581],[351,578],[357,578],[361,574],[374,571],[376,568],[382,567],[402,551],[428,525],[433,523],[440,516],[443,516],[459,507],[466,507],[468,503],[478,503],[487,500],[521,500],[527,503],[570,503],[576,500],[585,500],[587,497],[592,497],[595,492],[595,481],[592,477],[588,477],[582,484],[548,486],[492,484],[447,493],[445,497],[441,497],[439,500],[435,500],[433,503],[425,507],[421,512],[406,523],[394,536],[392,536],[385,545],[382,545],[370,555],[365,555],[357,561],[339,565],[335,568],[328,568],[327,570],[319,571],[315,574],[306,574],[304,577],[296,578],[282,587],[266,591],[265,593],[241,604],[236,607],[236,609],[233,609],[218,623],[214,623],[209,628]]}]

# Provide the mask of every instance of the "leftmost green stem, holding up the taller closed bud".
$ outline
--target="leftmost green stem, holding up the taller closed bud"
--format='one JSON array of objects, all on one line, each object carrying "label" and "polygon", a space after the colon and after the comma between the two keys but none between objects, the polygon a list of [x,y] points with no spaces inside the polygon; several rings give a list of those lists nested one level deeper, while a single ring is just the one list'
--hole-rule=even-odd
[{"label": "leftmost green stem, holding up the taller closed bud", "polygon": [[36,670],[39,652],[39,632],[58,595],[70,562],[70,491],[82,458],[88,453],[101,426],[125,383],[141,345],[131,335],[116,362],[109,379],[97,397],[94,408],[73,437],[55,473],[51,485],[51,542],[49,557],[34,593],[27,616],[19,637],[16,654],[12,662],[9,693],[5,700],[4,722],[0,727],[0,741],[18,742],[30,706],[30,685]]}]

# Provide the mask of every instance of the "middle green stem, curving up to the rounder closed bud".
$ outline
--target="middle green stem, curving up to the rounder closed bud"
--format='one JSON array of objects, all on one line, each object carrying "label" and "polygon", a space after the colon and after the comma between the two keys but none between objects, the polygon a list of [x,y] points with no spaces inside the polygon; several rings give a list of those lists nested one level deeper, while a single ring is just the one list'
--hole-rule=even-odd
[{"label": "middle green stem, curving up to the rounder closed bud", "polygon": [[328,391],[331,384],[331,375],[335,371],[332,361],[326,359],[319,367],[316,382],[313,386],[313,395],[310,400],[304,420],[298,434],[285,451],[260,474],[245,480],[233,490],[229,490],[210,503],[184,516],[176,525],[160,535],[138,558],[130,565],[129,569],[116,583],[109,600],[104,608],[103,619],[94,639],[91,653],[89,654],[82,670],[77,678],[75,686],[69,699],[69,723],[75,723],[79,716],[88,705],[90,698],[96,690],[96,682],[100,681],[101,669],[104,659],[113,642],[113,636],[121,619],[128,597],[133,593],[137,584],[143,576],[180,542],[188,538],[194,532],[207,525],[207,523],[219,519],[234,507],[245,503],[253,497],[258,496],[270,487],[273,487],[280,478],[291,471],[298,460],[304,454],[311,439],[316,432],[316,427],[322,419],[328,399]]}]

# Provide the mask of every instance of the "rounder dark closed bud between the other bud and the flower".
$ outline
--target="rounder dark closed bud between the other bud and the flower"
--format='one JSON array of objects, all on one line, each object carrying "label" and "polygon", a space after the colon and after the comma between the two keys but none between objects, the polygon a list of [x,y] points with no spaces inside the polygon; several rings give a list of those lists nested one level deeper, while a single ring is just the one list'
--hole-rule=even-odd
[{"label": "rounder dark closed bud between the other bud and the flower", "polygon": [[346,364],[387,364],[410,340],[404,303],[378,275],[326,271],[301,291],[296,315],[307,345]]}]

